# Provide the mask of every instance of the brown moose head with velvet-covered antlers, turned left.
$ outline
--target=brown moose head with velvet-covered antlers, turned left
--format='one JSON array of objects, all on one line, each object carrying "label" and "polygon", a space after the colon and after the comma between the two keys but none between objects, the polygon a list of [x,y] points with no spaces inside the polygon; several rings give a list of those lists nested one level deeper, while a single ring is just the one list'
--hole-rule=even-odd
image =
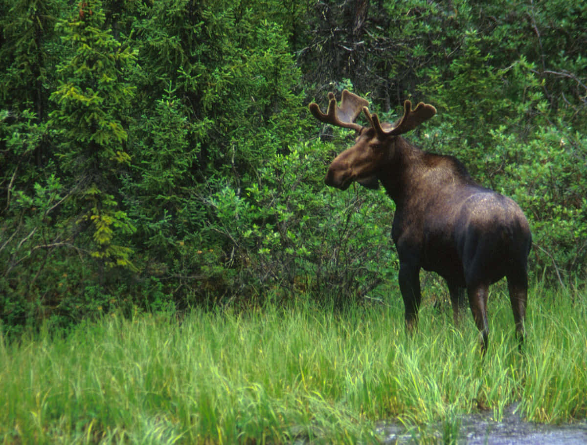
[{"label": "brown moose head with velvet-covered antlers, turned left", "polygon": [[[377,114],[369,112],[369,102],[356,94],[343,90],[340,106],[336,104],[333,93],[328,94],[329,104],[326,114],[316,103],[309,108],[313,116],[325,124],[350,128],[357,132],[355,145],[343,151],[330,164],[326,175],[326,185],[346,190],[353,181],[367,188],[377,188],[377,174],[384,165],[384,158],[390,157],[393,144],[400,134],[413,130],[436,114],[436,108],[420,102],[412,110],[411,102],[404,102],[403,117],[396,124],[381,124]],[[355,123],[360,113],[365,114],[370,127]],[[393,155],[393,153],[392,153]]]}]

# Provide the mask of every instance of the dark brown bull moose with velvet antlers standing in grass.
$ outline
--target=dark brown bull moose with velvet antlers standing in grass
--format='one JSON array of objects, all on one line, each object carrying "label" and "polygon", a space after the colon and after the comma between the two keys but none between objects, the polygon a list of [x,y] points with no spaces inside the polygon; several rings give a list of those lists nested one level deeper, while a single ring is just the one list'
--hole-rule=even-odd
[{"label": "dark brown bull moose with velvet antlers standing in grass", "polygon": [[[485,354],[488,289],[506,277],[521,346],[532,235],[517,203],[478,185],[456,158],[423,151],[402,137],[433,117],[433,106],[419,103],[412,109],[406,100],[403,117],[390,124],[380,123],[369,102],[348,90],[340,106],[333,93],[328,97],[326,114],[318,104],[309,105],[313,116],[357,135],[355,145],[330,164],[326,185],[346,190],[353,181],[367,188],[382,184],[396,204],[392,238],[407,331],[417,325],[420,269],[434,271],[447,283],[455,322],[468,297]],[[361,113],[369,126],[355,123]]]}]

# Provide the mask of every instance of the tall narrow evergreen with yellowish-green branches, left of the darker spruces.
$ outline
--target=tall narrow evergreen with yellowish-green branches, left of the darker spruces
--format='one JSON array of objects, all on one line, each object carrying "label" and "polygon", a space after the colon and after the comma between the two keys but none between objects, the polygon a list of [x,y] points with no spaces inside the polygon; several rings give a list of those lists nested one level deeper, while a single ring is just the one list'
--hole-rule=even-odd
[{"label": "tall narrow evergreen with yellowish-green branches, left of the darker spruces", "polygon": [[58,140],[59,166],[77,184],[72,209],[86,235],[82,243],[104,266],[133,268],[130,247],[117,239],[134,227],[116,196],[131,159],[125,126],[134,88],[126,79],[136,54],[104,29],[104,21],[102,2],[87,0],[69,20],[58,23],[71,53],[57,67],[50,124]]}]

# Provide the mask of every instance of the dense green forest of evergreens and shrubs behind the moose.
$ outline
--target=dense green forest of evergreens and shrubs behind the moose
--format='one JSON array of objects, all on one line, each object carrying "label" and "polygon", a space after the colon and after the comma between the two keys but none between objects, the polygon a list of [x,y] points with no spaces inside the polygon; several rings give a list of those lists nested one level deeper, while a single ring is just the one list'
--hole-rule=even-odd
[{"label": "dense green forest of evergreens and shrubs behind the moose", "polygon": [[587,3],[0,0],[0,29],[5,333],[389,290],[393,203],[323,182],[353,134],[307,104],[345,88],[436,106],[407,138],[519,203],[532,280],[587,278]]}]

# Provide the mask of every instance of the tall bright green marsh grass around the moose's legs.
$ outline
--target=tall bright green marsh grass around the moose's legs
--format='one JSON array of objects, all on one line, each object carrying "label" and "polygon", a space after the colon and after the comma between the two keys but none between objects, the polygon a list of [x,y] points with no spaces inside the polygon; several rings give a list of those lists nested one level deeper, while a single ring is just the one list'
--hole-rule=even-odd
[{"label": "tall bright green marsh grass around the moose's legs", "polygon": [[470,314],[424,305],[407,337],[400,298],[343,311],[112,316],[66,336],[0,338],[3,443],[370,443],[399,419],[454,443],[459,416],[519,403],[528,420],[587,413],[587,301],[535,288],[525,352],[508,299],[490,299],[484,359]]}]

